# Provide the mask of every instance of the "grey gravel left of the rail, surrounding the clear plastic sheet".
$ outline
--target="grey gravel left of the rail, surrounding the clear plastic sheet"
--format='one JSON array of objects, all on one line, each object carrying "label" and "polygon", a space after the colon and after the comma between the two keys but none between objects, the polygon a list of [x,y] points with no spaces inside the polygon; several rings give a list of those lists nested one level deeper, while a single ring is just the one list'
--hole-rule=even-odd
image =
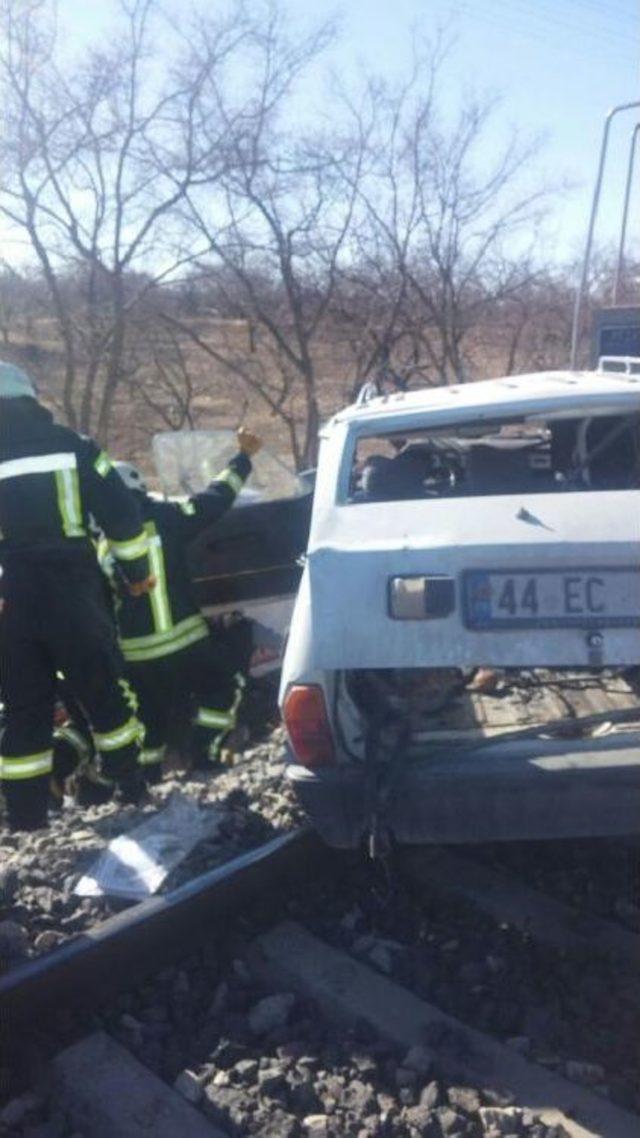
[{"label": "grey gravel left of the rail, surrounding the clear plastic sheet", "polygon": [[278,727],[239,752],[230,767],[191,776],[171,773],[141,808],[65,806],[51,814],[48,830],[9,834],[0,828],[0,973],[122,908],[125,902],[115,898],[81,898],[74,889],[114,838],[164,809],[177,792],[208,811],[215,826],[169,874],[163,892],[293,828],[301,814],[282,777],[284,743]]}]

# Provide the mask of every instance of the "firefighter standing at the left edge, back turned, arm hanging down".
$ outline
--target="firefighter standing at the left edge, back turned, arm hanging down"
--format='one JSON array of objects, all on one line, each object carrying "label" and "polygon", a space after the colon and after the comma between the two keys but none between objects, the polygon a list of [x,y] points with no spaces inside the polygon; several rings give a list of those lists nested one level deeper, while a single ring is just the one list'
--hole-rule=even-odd
[{"label": "firefighter standing at the left edge, back turned, arm hanging down", "polygon": [[13,830],[47,824],[60,673],[91,724],[101,774],[125,801],[143,793],[143,728],[88,536],[90,513],[133,604],[154,586],[136,501],[107,455],[56,424],[28,376],[0,362],[0,778]]}]

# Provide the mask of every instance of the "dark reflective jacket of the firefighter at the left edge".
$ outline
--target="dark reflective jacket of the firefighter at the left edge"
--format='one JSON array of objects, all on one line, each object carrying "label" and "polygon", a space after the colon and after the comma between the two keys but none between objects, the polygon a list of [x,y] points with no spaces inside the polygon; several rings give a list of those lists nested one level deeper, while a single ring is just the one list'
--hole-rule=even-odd
[{"label": "dark reflective jacket of the firefighter at the left edge", "polygon": [[0,560],[92,551],[89,516],[126,580],[149,575],[139,506],[107,455],[34,399],[0,401]]}]

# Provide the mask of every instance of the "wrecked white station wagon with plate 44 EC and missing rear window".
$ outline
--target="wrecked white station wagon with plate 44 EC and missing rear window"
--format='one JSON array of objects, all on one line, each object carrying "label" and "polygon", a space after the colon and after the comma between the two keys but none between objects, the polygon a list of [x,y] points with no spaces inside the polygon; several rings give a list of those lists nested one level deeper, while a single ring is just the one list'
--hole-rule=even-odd
[{"label": "wrecked white station wagon with plate 44 EC and missing rear window", "polygon": [[637,832],[640,364],[322,430],[288,777],[334,846]]}]

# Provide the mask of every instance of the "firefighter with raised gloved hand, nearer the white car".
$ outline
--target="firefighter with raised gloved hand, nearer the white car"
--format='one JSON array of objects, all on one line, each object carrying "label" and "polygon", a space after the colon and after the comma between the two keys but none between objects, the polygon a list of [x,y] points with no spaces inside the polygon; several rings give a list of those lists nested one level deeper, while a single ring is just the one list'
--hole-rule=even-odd
[{"label": "firefighter with raised gloved hand, nearer the white car", "polygon": [[141,604],[118,589],[116,619],[128,675],[146,728],[141,762],[148,782],[162,775],[167,735],[177,704],[190,696],[192,766],[216,764],[225,736],[236,725],[245,679],[231,665],[223,643],[212,636],[194,597],[187,563],[189,543],[233,504],[252,469],[261,439],[238,430],[238,453],[203,493],[186,502],[156,501],[134,467],[120,463],[125,485],[141,503],[157,586]]}]

